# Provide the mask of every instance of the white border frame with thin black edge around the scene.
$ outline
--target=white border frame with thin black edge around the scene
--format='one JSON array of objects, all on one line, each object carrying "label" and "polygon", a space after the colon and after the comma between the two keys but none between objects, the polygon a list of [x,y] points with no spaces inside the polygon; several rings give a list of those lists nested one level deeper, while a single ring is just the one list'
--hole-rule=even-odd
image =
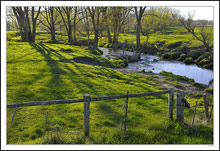
[{"label": "white border frame with thin black edge around the scene", "polygon": [[[1,149],[3,150],[219,150],[219,1],[1,1]],[[6,6],[214,7],[214,145],[6,145]]]}]

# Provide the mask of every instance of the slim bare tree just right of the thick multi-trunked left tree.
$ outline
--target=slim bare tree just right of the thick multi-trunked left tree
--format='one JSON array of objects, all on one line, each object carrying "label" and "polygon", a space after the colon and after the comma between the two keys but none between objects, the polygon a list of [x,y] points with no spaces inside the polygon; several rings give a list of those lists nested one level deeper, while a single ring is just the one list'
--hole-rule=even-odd
[{"label": "slim bare tree just right of the thick multi-trunked left tree", "polygon": [[41,23],[45,27],[47,27],[47,29],[50,31],[51,41],[53,43],[56,43],[56,37],[55,37],[56,28],[55,28],[55,26],[60,22],[57,20],[58,13],[57,13],[55,7],[44,7],[44,11],[41,13],[41,15],[45,19],[45,22],[41,21]]}]

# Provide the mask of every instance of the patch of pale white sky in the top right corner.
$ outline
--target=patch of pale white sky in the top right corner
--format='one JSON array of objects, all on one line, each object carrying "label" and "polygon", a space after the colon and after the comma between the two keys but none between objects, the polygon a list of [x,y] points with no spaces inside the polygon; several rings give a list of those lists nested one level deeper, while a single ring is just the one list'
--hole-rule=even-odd
[{"label": "patch of pale white sky in the top right corner", "polygon": [[213,20],[213,7],[172,7],[179,9],[182,15],[188,14],[188,12],[194,13],[193,19],[207,19]]}]

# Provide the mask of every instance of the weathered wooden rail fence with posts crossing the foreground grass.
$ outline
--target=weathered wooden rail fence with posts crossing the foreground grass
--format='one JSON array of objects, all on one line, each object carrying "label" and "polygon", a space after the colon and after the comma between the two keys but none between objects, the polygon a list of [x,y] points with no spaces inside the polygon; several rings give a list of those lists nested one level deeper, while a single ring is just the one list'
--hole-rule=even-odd
[{"label": "weathered wooden rail fence with posts crossing the foreground grass", "polygon": [[[126,102],[128,102],[128,98],[131,98],[131,97],[143,97],[143,96],[153,96],[153,95],[161,95],[161,94],[169,94],[168,118],[172,120],[173,119],[173,106],[174,106],[174,89],[173,88],[170,88],[169,90],[166,90],[166,91],[138,93],[138,94],[127,93],[126,95],[114,95],[114,96],[103,96],[103,97],[90,97],[89,94],[84,94],[83,99],[16,103],[16,104],[8,104],[7,108],[15,108],[14,114],[12,116],[12,121],[13,121],[17,107],[84,102],[84,135],[89,137],[90,102],[103,101],[103,100],[109,100],[109,99],[121,99],[121,98],[126,98]],[[182,93],[177,94],[176,119],[180,122],[184,122],[184,97],[185,96]]]}]

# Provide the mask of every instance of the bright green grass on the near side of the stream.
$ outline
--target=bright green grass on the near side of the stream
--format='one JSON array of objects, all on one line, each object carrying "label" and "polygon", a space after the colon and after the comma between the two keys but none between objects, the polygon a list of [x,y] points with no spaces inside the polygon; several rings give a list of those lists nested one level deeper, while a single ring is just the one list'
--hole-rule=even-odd
[{"label": "bright green grass on the near side of the stream", "polygon": [[[93,58],[103,65],[71,60],[76,57]],[[86,47],[7,42],[7,104],[79,99],[85,93],[98,97],[160,90],[152,84],[158,82],[157,77],[123,74],[107,65],[117,67],[118,64],[94,55]],[[190,127],[168,120],[167,100],[168,95],[130,98],[126,137],[123,137],[124,111],[121,109],[124,99],[91,102],[90,139],[83,136],[83,103],[20,107],[13,124],[10,121],[14,109],[7,109],[7,144],[213,143],[212,125],[201,125],[202,107],[198,108],[196,125]],[[188,100],[195,104],[195,99]],[[43,142],[46,113],[49,123]],[[193,108],[185,110],[187,124],[191,123],[192,115]]]}]

